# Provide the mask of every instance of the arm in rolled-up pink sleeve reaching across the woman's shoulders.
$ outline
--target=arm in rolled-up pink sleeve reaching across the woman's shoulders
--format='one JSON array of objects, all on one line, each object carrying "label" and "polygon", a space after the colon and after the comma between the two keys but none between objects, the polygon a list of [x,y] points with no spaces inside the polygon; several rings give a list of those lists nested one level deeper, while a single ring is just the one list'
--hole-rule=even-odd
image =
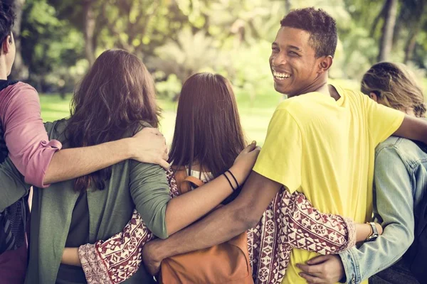
[{"label": "arm in rolled-up pink sleeve reaching across the woman's shoulders", "polygon": [[0,99],[4,139],[12,162],[32,185],[47,187],[130,158],[168,166],[167,148],[157,129],[98,146],[58,151],[61,143],[48,141],[36,89],[23,83],[9,88]]}]

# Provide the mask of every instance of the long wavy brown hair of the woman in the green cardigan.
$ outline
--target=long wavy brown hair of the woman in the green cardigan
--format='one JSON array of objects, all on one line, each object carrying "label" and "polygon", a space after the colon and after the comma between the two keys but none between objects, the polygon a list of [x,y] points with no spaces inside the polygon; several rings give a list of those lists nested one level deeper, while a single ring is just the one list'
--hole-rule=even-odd
[{"label": "long wavy brown hair of the woman in the green cardigan", "polygon": [[[65,129],[70,147],[93,146],[135,133],[142,121],[159,124],[154,82],[144,63],[125,50],[106,50],[78,87]],[[75,181],[75,190],[105,188],[111,168]]]}]

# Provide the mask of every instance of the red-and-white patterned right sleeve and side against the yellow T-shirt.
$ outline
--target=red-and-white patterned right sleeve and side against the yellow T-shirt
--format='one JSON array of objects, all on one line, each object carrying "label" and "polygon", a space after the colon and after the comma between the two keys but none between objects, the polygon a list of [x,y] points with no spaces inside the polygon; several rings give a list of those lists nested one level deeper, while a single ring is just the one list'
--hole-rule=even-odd
[{"label": "red-and-white patterned right sleeve and side against the yellow T-shirt", "polygon": [[280,283],[292,249],[336,254],[354,246],[356,228],[351,219],[319,212],[302,193],[282,189],[249,238],[255,283]]}]

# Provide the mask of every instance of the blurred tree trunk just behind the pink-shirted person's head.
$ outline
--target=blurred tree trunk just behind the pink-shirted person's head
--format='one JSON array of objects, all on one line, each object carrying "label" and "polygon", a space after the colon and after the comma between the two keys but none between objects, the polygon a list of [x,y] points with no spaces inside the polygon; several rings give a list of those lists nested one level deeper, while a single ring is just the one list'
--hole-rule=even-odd
[{"label": "blurred tree trunk just behind the pink-shirted person's head", "polygon": [[21,55],[21,21],[22,21],[22,9],[25,4],[25,0],[16,0],[14,5],[14,11],[16,13],[15,25],[12,29],[15,38],[16,55],[14,67],[12,67],[11,78],[14,80],[27,80],[28,79],[28,67],[22,60]]}]

